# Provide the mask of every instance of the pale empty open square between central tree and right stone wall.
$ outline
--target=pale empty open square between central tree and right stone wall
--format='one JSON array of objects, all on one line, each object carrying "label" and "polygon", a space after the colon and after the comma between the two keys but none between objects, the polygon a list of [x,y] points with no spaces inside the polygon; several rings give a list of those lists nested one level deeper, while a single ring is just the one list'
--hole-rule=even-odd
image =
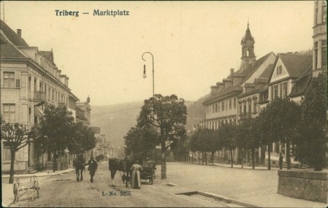
[{"label": "pale empty open square between central tree and right stone wall", "polygon": [[230,198],[247,199],[277,193],[277,170],[168,163],[166,181]]}]

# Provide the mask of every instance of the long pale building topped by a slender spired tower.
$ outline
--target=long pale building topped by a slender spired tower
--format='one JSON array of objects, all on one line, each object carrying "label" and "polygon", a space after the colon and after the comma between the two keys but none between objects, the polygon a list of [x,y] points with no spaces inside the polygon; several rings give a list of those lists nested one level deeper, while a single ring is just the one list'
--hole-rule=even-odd
[{"label": "long pale building topped by a slender spired tower", "polygon": [[[230,69],[230,75],[221,83],[212,86],[212,96],[202,103],[206,107],[206,119],[200,123],[203,127],[218,129],[221,123],[238,123],[248,116],[257,116],[259,90],[266,84],[276,56],[270,52],[257,60],[254,43],[248,24],[241,40],[239,70]],[[266,79],[262,79],[262,75],[265,75]],[[256,93],[254,89],[257,90]],[[225,151],[221,151],[219,155],[227,157]],[[234,155],[238,160],[241,159],[238,149],[234,151]]]}]

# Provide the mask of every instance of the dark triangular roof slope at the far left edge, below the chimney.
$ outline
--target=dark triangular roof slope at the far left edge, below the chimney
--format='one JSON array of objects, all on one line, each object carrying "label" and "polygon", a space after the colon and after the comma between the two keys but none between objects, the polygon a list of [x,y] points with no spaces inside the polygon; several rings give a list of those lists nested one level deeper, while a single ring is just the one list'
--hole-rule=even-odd
[{"label": "dark triangular roof slope at the far left edge, below the chimney", "polygon": [[12,45],[6,39],[3,33],[0,33],[0,58],[26,58],[19,49]]}]

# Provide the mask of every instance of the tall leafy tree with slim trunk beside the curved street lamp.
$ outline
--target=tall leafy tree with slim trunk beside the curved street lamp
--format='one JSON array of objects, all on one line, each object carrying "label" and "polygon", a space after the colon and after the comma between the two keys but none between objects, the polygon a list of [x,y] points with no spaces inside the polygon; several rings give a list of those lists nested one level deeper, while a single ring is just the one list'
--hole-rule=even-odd
[{"label": "tall leafy tree with slim trunk beside the curved street lamp", "polygon": [[180,139],[185,135],[184,125],[187,119],[187,106],[184,99],[175,95],[162,96],[155,94],[144,101],[137,119],[137,125],[155,126],[159,129],[159,143],[162,146],[161,179],[166,179],[166,141]]}]

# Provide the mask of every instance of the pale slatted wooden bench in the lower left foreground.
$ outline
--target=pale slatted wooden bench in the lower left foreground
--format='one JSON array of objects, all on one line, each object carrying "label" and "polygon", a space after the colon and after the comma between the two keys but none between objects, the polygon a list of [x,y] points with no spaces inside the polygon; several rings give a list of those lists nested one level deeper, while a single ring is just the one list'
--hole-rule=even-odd
[{"label": "pale slatted wooden bench in the lower left foreground", "polygon": [[15,201],[17,202],[20,196],[28,193],[32,193],[32,200],[34,200],[34,193],[37,192],[37,197],[39,197],[39,182],[37,181],[37,177],[31,176],[30,182],[20,182],[17,177],[16,182],[13,186]]}]

